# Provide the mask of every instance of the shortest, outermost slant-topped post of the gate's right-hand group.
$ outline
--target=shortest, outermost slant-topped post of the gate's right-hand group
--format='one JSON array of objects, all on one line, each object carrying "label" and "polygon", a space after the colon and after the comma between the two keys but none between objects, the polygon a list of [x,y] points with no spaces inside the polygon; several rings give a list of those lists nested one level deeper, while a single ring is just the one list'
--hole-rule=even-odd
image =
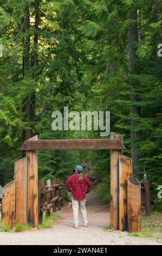
[{"label": "shortest, outermost slant-topped post of the gate's right-hand group", "polygon": [[127,185],[128,232],[141,231],[141,185],[137,179],[128,178]]}]

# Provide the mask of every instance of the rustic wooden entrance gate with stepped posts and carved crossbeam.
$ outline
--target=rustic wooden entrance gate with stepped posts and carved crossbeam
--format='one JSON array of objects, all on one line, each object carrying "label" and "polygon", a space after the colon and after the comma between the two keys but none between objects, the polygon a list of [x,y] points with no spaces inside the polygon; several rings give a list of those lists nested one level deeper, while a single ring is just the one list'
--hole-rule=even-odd
[{"label": "rustic wooden entrance gate with stepped posts and carved crossbeam", "polygon": [[[12,185],[12,194],[15,194],[15,208],[12,212],[3,209],[7,205],[5,186],[3,188],[2,201],[2,225],[11,220],[11,227],[15,223],[38,225],[38,161],[37,150],[111,150],[111,228],[114,230],[140,231],[140,185],[132,178],[132,160],[123,156],[125,149],[122,136],[111,132],[110,139],[55,139],[38,140],[37,136],[25,141],[21,150],[26,151],[27,156],[15,163],[15,182]],[[129,179],[129,208],[127,209],[127,179]],[[8,187],[8,186],[7,186]],[[134,190],[135,187],[135,190]],[[9,187],[8,187],[8,191]],[[135,191],[136,203],[131,198]],[[8,192],[9,193],[9,192]],[[9,200],[10,202],[11,200]],[[9,204],[9,203],[8,203]],[[133,209],[133,213],[132,213]],[[7,214],[8,212],[8,214]],[[128,214],[128,218],[127,218]],[[7,218],[8,215],[8,218]],[[128,221],[127,221],[128,220]],[[129,231],[129,230],[128,230]]]}]

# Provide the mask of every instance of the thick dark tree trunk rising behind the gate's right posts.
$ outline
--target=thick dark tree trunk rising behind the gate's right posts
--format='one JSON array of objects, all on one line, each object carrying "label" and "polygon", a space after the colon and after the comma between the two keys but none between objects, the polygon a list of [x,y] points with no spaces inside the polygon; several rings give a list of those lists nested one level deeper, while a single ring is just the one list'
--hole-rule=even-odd
[{"label": "thick dark tree trunk rising behind the gate's right posts", "polygon": [[[128,19],[132,20],[131,25],[128,28],[128,44],[129,44],[129,71],[132,75],[139,74],[138,67],[138,56],[136,54],[137,43],[138,43],[138,24],[137,24],[137,9],[132,8],[128,11]],[[135,46],[136,44],[136,46]],[[138,96],[135,94],[138,92],[139,83],[134,81],[130,82],[130,100],[132,102],[138,102]],[[138,121],[133,117],[134,114],[140,115],[140,107],[134,104],[131,107],[131,158],[133,161],[133,175],[138,175],[137,163],[139,160],[138,153],[138,132],[136,131],[138,127]]]}]

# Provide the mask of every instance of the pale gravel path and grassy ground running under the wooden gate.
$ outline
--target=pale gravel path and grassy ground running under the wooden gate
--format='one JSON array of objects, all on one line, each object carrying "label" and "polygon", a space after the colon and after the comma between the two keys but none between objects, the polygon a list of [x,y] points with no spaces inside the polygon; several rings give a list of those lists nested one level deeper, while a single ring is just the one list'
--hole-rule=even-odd
[{"label": "pale gravel path and grassy ground running under the wooden gate", "polygon": [[87,195],[89,227],[73,227],[70,204],[59,211],[61,219],[50,229],[32,229],[21,233],[0,232],[0,245],[161,245],[161,214],[142,217],[141,233],[113,231],[108,228],[110,214],[93,194]]}]

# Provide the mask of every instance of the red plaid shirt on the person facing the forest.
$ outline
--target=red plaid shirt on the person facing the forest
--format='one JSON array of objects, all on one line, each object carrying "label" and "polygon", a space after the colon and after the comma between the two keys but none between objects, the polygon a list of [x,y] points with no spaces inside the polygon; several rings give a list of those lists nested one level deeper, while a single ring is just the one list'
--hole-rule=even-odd
[{"label": "red plaid shirt on the person facing the forest", "polygon": [[83,176],[83,181],[79,182],[79,174],[74,174],[66,181],[66,186],[67,190],[72,192],[74,199],[83,200],[86,198],[86,194],[92,189],[92,182],[86,176]]}]

